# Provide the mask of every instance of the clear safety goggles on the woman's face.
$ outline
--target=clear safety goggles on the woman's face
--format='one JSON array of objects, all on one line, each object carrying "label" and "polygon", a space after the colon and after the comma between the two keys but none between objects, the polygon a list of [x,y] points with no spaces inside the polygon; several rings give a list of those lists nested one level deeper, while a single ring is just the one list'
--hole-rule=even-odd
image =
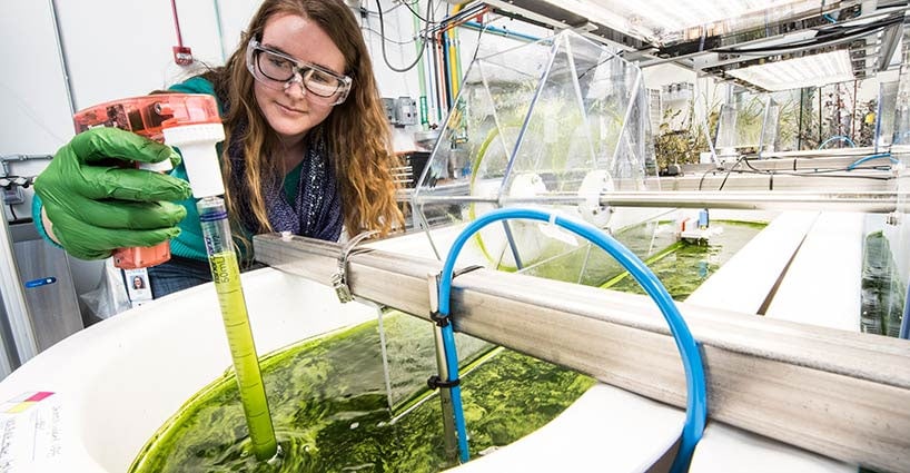
[{"label": "clear safety goggles on the woman's face", "polygon": [[291,83],[300,82],[310,93],[310,100],[322,105],[344,102],[353,82],[347,76],[274,51],[255,39],[247,45],[247,69],[270,89],[286,90]]}]

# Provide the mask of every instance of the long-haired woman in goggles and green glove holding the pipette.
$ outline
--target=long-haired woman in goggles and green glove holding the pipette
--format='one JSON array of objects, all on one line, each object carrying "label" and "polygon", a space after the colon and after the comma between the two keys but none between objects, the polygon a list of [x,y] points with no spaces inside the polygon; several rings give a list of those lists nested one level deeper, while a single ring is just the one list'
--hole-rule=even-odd
[{"label": "long-haired woman in goggles and green glove holding the pipette", "polygon": [[[373,66],[342,0],[266,0],[227,65],[171,91],[222,107],[225,197],[247,260],[259,233],[337,240],[343,226],[352,236],[402,227]],[[162,176],[110,158],[179,159],[117,129],[77,135],[36,180],[39,231],[85,259],[171,238],[171,260],[149,268],[155,297],[210,280],[182,165]]]}]

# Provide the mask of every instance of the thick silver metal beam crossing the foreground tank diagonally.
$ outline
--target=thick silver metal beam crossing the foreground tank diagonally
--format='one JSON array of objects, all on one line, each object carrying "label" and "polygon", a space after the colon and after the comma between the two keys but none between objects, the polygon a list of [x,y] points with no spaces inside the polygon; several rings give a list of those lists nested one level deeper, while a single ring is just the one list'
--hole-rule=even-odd
[{"label": "thick silver metal beam crossing the foreground tank diagonally", "polygon": [[[256,258],[329,285],[342,247],[261,235]],[[353,255],[354,295],[429,319],[426,277],[442,263],[379,250]],[[703,346],[710,417],[844,462],[910,465],[910,343],[677,303]],[[458,276],[459,332],[685,405],[673,338],[645,296],[478,269]]]}]

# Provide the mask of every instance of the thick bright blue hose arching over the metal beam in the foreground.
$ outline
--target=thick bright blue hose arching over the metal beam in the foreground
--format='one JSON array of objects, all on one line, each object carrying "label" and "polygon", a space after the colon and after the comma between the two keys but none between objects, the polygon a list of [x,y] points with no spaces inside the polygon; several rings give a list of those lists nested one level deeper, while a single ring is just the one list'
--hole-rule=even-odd
[{"label": "thick bright blue hose arching over the metal beam in the foreground", "polygon": [[[624,247],[622,244],[616,242],[610,235],[603,233],[597,227],[594,227],[585,221],[528,208],[501,208],[482,215],[476,220],[472,221],[464,230],[462,230],[462,233],[455,239],[455,243],[452,245],[452,249],[448,252],[448,256],[443,265],[443,273],[439,279],[439,315],[448,316],[455,259],[458,257],[458,254],[461,253],[465,243],[486,225],[510,218],[548,221],[571,230],[581,237],[587,238],[590,242],[609,253],[610,256],[615,258],[635,278],[635,280],[639,282],[654,303],[657,304],[657,307],[661,309],[666,323],[670,325],[670,332],[673,334],[676,348],[680,351],[680,355],[683,359],[685,387],[688,392],[685,424],[683,425],[679,453],[676,454],[676,459],[673,461],[673,466],[670,471],[672,473],[682,473],[688,471],[689,464],[692,460],[692,454],[695,451],[695,445],[702,437],[705,421],[708,418],[708,393],[701,352],[699,351],[695,338],[689,331],[689,326],[685,324],[680,311],[673,303],[673,298],[670,297],[666,288],[661,284],[654,273],[652,273],[651,269],[649,269],[637,256],[630,252],[629,248]],[[455,353],[455,337],[452,332],[452,324],[443,327],[443,341],[445,345],[446,365],[448,366],[449,377],[452,380],[457,380],[458,357]],[[462,462],[464,463],[468,457],[467,437],[465,435],[464,413],[462,412],[461,388],[458,386],[454,387],[452,391],[452,405],[455,412],[455,428],[458,433],[458,449]]]}]

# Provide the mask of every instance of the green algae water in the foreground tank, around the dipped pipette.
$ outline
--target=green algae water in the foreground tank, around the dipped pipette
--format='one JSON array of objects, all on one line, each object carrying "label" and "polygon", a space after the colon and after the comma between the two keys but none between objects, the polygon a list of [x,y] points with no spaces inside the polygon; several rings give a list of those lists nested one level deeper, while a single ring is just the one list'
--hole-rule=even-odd
[{"label": "green algae water in the foreground tank, around the dipped pipette", "polygon": [[[184,406],[131,471],[434,472],[452,466],[445,460],[438,402],[423,403],[389,424],[376,328],[376,323],[363,324],[261,361],[284,455],[279,465],[250,454],[236,383],[225,376]],[[593,384],[504,351],[465,377],[472,455],[543,426]]]}]

